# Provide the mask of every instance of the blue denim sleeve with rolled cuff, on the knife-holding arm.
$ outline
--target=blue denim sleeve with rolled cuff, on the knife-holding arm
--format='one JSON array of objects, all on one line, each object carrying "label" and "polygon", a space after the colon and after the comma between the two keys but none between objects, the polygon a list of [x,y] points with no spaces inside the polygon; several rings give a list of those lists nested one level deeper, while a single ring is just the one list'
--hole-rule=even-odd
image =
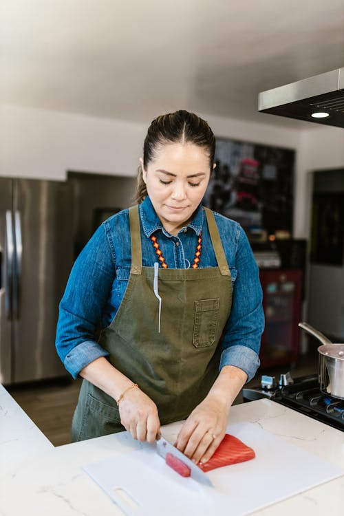
[{"label": "blue denim sleeve with rolled cuff, on the knife-holding arm", "polygon": [[73,378],[96,358],[108,354],[96,342],[96,334],[114,282],[115,266],[114,248],[102,224],[76,259],[59,305],[56,350]]}]

